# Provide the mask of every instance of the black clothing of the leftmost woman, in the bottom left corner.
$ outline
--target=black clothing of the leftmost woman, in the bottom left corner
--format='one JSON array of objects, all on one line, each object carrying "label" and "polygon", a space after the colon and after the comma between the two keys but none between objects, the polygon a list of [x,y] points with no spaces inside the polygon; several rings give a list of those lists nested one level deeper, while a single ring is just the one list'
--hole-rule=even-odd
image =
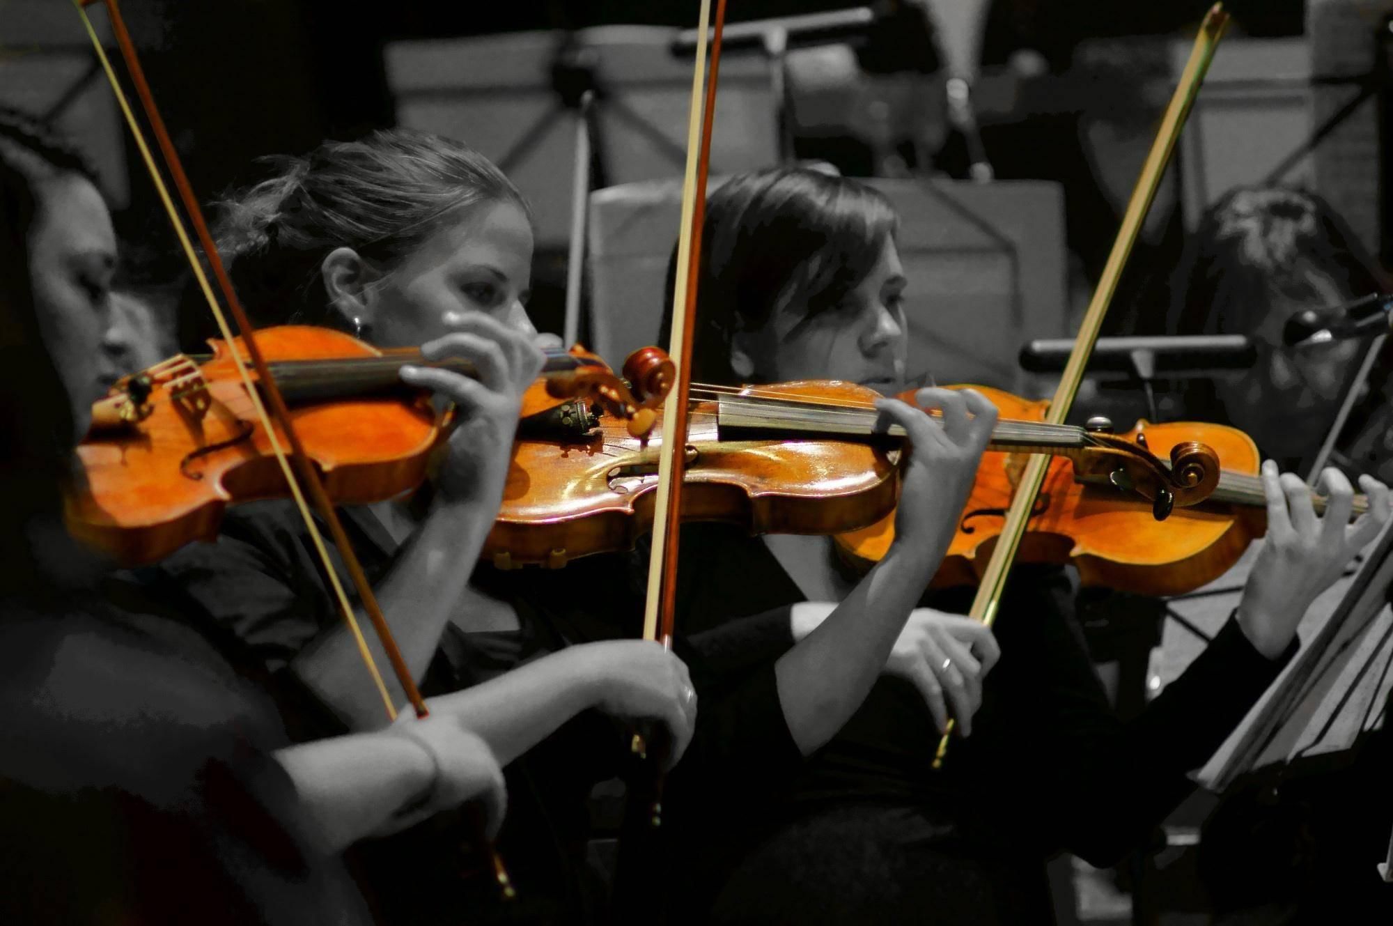
[{"label": "black clothing of the leftmost woman, in the bottom left corner", "polygon": [[196,635],[0,609],[0,922],[371,922],[304,838],[274,708]]}]

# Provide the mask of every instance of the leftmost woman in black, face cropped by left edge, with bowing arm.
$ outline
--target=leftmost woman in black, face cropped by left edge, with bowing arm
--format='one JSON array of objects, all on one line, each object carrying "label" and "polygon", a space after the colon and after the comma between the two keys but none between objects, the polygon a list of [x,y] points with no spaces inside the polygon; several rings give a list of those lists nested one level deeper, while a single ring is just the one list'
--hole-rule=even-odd
[{"label": "leftmost woman in black, face cropped by left edge, with bowing arm", "polygon": [[350,842],[483,799],[501,773],[446,721],[291,745],[196,633],[103,597],[60,483],[123,351],[111,219],[82,159],[0,113],[0,919],[369,922]]}]

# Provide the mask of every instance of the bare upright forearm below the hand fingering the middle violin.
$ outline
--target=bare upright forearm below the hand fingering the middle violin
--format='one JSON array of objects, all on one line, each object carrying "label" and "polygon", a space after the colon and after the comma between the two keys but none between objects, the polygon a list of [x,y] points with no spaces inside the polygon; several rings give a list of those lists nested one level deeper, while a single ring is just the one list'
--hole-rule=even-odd
[{"label": "bare upright forearm below the hand fingering the middle violin", "polygon": [[939,559],[939,549],[892,548],[775,664],[784,720],[805,756],[832,739],[865,700]]}]

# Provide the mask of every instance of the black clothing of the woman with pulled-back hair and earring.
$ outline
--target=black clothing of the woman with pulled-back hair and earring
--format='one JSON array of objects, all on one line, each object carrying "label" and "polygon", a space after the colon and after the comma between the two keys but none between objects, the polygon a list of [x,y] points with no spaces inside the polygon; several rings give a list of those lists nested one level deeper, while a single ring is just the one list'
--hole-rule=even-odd
[{"label": "black clothing of the woman with pulled-back hair and earring", "polygon": [[[369,582],[376,583],[394,562],[396,542],[369,512],[350,508],[340,513]],[[330,548],[330,556],[348,587],[337,551]],[[605,587],[618,589],[598,597],[585,582],[589,575],[612,576],[616,582]],[[469,633],[447,623],[421,690],[426,696],[458,690],[568,644],[637,636],[639,595],[623,582],[628,576],[627,555],[592,558],[564,570],[500,572],[481,565],[474,584],[513,604],[521,629]],[[259,502],[230,510],[215,544],[185,547],[159,566],[141,570],[138,579],[171,609],[182,611],[196,625],[220,629],[234,640],[231,647],[241,657],[251,657],[270,671],[274,679],[270,690],[287,714],[293,735],[341,732],[338,721],[322,704],[313,704],[290,669],[295,654],[341,618],[308,531],[288,502]],[[708,767],[729,774],[724,763],[731,754],[723,743],[751,736],[766,738],[772,749],[797,754],[773,694],[770,658],[790,644],[787,607],[674,643],[701,692],[699,715],[705,721],[701,739],[694,739],[684,764],[692,756],[703,756]],[[727,678],[734,682],[723,686]],[[737,697],[708,697],[708,689],[722,696],[737,692]],[[758,710],[738,708],[745,700],[738,692],[745,689],[761,693],[749,697],[759,704]],[[729,707],[708,711],[708,700]],[[384,918],[454,923],[460,911],[468,909],[481,919],[599,919],[602,891],[584,860],[589,835],[586,796],[596,782],[621,773],[627,754],[623,725],[598,711],[584,711],[504,768],[508,812],[497,849],[520,902],[499,906],[497,888],[482,860],[461,848],[464,830],[450,814],[359,847],[358,867]],[[423,873],[422,863],[429,866]],[[464,883],[461,872],[469,876]]]}]

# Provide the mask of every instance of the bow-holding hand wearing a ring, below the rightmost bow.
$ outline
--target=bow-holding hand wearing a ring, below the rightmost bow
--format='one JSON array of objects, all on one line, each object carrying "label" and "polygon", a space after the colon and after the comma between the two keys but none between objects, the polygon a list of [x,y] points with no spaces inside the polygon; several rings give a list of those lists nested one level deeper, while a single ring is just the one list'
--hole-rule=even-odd
[{"label": "bow-holding hand wearing a ring, below the rightmost bow", "polygon": [[[949,725],[949,703],[957,728],[972,734],[972,715],[982,706],[982,679],[1002,658],[990,628],[972,618],[915,608],[900,630],[886,671],[914,682],[924,694],[939,732]],[[947,701],[944,703],[944,693]]]}]

